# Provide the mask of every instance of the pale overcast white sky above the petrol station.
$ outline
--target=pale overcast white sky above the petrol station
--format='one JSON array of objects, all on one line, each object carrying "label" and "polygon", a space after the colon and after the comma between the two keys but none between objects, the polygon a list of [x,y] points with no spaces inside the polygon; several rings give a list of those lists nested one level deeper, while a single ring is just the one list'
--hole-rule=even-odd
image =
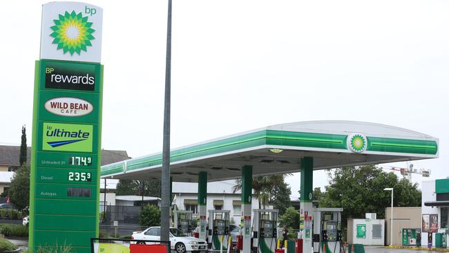
[{"label": "pale overcast white sky above the petrol station", "polygon": [[[23,124],[30,144],[43,3],[2,3],[0,144],[19,144]],[[104,8],[102,147],[159,152],[167,2],[89,3]],[[439,158],[413,164],[446,178],[448,13],[437,0],[173,0],[171,147],[271,124],[375,122],[439,138]]]}]

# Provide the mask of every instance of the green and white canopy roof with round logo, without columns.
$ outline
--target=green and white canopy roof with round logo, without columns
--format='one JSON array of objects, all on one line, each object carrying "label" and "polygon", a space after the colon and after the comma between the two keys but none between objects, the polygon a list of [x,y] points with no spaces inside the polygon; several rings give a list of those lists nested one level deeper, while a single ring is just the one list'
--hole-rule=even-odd
[{"label": "green and white canopy roof with round logo, without columns", "polygon": [[[176,182],[241,178],[300,171],[300,158],[312,157],[314,170],[438,158],[438,139],[385,124],[308,121],[277,124],[172,149],[171,177]],[[103,166],[102,178],[160,178],[162,153]]]}]

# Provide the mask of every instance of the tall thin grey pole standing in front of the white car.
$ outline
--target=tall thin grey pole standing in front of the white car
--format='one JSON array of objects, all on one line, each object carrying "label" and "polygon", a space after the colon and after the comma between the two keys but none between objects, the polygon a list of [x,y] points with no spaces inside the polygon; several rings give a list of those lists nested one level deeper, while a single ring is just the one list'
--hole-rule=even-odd
[{"label": "tall thin grey pole standing in front of the white car", "polygon": [[[169,241],[170,228],[170,94],[171,94],[171,0],[167,15],[166,59],[165,59],[165,99],[164,99],[164,140],[162,144],[162,203],[160,239]],[[167,249],[170,252],[170,249]]]}]

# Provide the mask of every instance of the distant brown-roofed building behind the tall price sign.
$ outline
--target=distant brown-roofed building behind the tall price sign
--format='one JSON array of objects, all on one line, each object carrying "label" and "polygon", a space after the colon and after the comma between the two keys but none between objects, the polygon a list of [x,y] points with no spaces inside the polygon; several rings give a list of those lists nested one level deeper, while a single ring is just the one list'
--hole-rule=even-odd
[{"label": "distant brown-roofed building behind the tall price sign", "polygon": [[[30,164],[31,147],[27,148],[27,164]],[[0,194],[8,191],[12,176],[19,165],[20,146],[0,145]],[[102,165],[130,159],[124,150],[102,150]]]}]

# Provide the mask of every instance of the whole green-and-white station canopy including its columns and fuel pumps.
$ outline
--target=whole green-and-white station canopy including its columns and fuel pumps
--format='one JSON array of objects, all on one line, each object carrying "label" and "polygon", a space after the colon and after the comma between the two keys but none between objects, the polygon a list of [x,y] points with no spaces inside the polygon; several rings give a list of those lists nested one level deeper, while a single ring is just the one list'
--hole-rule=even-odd
[{"label": "whole green-and-white station canopy including its columns and fuel pumps", "polygon": [[[343,209],[313,205],[313,171],[438,158],[438,142],[430,135],[369,122],[278,124],[172,149],[171,181],[198,182],[199,238],[207,240],[209,251],[226,251],[229,210],[207,210],[207,182],[241,178],[243,227],[237,248],[242,253],[271,253],[276,252],[277,239],[283,238],[278,233],[278,210],[251,209],[252,178],[300,172],[295,252],[343,252]],[[103,166],[101,177],[160,178],[161,163],[162,153],[124,160]],[[175,227],[193,234],[191,211],[176,210],[173,215]]]}]

